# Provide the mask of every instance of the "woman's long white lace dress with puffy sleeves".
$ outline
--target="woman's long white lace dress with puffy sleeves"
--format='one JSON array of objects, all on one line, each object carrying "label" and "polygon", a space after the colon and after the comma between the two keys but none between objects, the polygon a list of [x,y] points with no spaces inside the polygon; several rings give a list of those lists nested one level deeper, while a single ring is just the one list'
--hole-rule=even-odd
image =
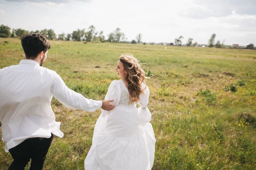
[{"label": "woman's long white lace dress with puffy sleeves", "polygon": [[114,99],[112,111],[102,110],[93,133],[93,144],[84,160],[85,170],[151,170],[154,163],[154,131],[147,108],[149,89],[129,105],[129,92],[122,79],[114,80],[105,100]]}]

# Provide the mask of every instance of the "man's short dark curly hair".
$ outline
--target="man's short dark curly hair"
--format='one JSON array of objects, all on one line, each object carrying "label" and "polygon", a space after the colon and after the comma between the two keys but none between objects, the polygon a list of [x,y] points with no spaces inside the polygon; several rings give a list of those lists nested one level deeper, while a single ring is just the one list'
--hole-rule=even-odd
[{"label": "man's short dark curly hair", "polygon": [[35,59],[41,51],[51,48],[50,42],[41,34],[26,34],[21,38],[21,45],[27,59]]}]

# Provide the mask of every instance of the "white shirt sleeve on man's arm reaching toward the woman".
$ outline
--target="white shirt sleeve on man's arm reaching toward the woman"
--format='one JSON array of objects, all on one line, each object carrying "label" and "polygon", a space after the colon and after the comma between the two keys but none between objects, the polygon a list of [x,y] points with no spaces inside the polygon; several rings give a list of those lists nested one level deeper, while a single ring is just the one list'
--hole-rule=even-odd
[{"label": "white shirt sleeve on man's arm reaching toward the woman", "polygon": [[102,101],[87,99],[68,88],[57,73],[53,77],[51,93],[61,104],[68,108],[95,111],[102,107]]}]

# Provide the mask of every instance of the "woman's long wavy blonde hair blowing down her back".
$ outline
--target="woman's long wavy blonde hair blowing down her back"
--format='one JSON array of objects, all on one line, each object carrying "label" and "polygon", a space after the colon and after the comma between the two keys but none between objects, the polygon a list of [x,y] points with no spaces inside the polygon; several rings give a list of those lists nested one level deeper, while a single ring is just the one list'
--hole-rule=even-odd
[{"label": "woman's long wavy blonde hair blowing down her back", "polygon": [[125,71],[125,79],[128,81],[128,91],[130,94],[130,104],[140,100],[140,94],[143,94],[142,83],[146,77],[145,71],[140,68],[140,61],[137,60],[132,54],[123,54],[119,58],[122,62]]}]

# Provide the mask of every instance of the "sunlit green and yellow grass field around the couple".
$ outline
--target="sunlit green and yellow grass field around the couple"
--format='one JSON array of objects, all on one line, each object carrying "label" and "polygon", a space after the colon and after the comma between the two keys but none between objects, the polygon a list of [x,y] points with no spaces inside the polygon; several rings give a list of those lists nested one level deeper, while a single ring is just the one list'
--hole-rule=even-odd
[{"label": "sunlit green and yellow grass field around the couple", "polygon": [[[255,50],[51,44],[44,67],[56,71],[69,88],[87,98],[104,99],[110,83],[118,79],[114,68],[123,53],[134,54],[144,63],[143,69],[154,74],[146,81],[157,139],[153,170],[256,169]],[[20,40],[1,38],[0,68],[21,59]],[[44,170],[83,170],[100,110],[72,110],[56,99],[52,109],[64,137],[53,139]],[[0,142],[0,170],[7,170],[11,162]]]}]

